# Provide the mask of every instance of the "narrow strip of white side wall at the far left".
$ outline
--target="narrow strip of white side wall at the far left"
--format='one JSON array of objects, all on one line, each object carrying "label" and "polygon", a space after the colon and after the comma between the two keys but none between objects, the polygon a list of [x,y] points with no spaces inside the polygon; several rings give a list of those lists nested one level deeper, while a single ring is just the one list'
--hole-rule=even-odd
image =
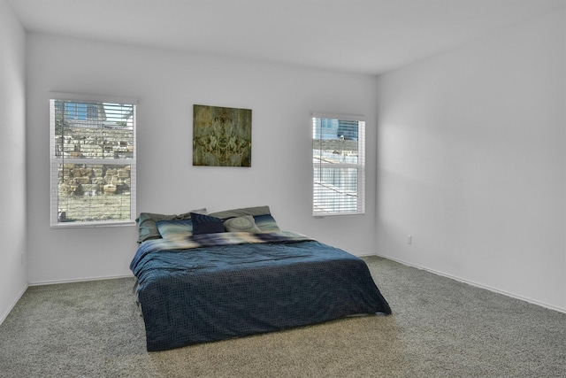
[{"label": "narrow strip of white side wall at the far left", "polygon": [[0,0],[0,323],[27,288],[26,34]]}]

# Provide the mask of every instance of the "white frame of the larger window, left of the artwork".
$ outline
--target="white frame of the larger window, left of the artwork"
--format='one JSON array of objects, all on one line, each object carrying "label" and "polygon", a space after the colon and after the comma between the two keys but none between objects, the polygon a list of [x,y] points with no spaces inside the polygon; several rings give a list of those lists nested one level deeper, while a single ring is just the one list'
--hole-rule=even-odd
[{"label": "white frame of the larger window, left of the artwork", "polygon": [[[55,101],[78,102],[78,103],[97,103],[97,104],[128,104],[133,105],[133,152],[131,158],[65,158],[57,151],[56,146],[56,125],[55,125]],[[53,105],[52,105],[53,104]],[[137,170],[137,106],[138,100],[132,97],[123,96],[97,96],[82,95],[62,92],[49,93],[49,116],[50,116],[50,228],[101,228],[134,226],[136,224],[136,170]],[[88,107],[87,107],[88,108]],[[65,108],[63,109],[65,112]],[[77,110],[75,110],[77,112]],[[88,120],[88,109],[85,110]],[[81,121],[81,120],[78,120]],[[58,208],[58,166],[65,162],[77,161],[84,165],[115,165],[130,166],[130,215],[127,220],[89,220],[89,221],[60,221]]]}]

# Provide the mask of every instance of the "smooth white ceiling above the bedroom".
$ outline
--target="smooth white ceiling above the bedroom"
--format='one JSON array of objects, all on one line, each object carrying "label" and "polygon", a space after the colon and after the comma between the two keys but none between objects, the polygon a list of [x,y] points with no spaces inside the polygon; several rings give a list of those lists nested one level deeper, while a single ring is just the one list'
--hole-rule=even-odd
[{"label": "smooth white ceiling above the bedroom", "polygon": [[8,0],[27,31],[379,74],[566,0]]}]

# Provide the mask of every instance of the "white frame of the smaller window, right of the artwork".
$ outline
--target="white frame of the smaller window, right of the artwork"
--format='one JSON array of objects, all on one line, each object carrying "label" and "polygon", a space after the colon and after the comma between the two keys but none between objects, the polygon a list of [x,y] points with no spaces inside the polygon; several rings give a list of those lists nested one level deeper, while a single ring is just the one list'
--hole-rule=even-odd
[{"label": "white frame of the smaller window, right of the artwork", "polygon": [[[358,122],[358,136],[357,136],[357,162],[356,163],[334,163],[325,165],[321,161],[316,162],[317,157],[315,156],[314,150],[314,143],[317,140],[324,140],[323,133],[320,132],[319,136],[317,137],[315,133],[316,127],[316,120],[341,120],[341,121],[356,121]],[[364,215],[365,214],[365,176],[366,176],[366,167],[365,167],[365,133],[366,133],[366,125],[367,121],[365,116],[363,115],[353,115],[353,114],[340,114],[340,113],[330,113],[330,112],[312,112],[310,117],[310,127],[311,127],[311,150],[312,150],[312,216],[315,218],[325,218],[325,217],[335,217],[335,216],[344,216],[344,215]],[[322,124],[322,123],[321,123]],[[316,193],[316,185],[317,185],[317,167],[318,168],[325,168],[325,169],[343,169],[343,168],[350,168],[357,170],[356,176],[356,210],[355,211],[329,211],[329,212],[321,212],[317,210],[317,193]]]}]

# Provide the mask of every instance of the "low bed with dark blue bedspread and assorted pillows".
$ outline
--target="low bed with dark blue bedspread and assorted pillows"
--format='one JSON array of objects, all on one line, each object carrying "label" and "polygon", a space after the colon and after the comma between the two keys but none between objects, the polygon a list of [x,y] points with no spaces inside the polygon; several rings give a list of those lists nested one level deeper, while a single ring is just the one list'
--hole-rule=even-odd
[{"label": "low bed with dark blue bedspread and assorted pillows", "polygon": [[363,259],[281,231],[268,206],[138,224],[130,268],[148,351],[391,313]]}]

